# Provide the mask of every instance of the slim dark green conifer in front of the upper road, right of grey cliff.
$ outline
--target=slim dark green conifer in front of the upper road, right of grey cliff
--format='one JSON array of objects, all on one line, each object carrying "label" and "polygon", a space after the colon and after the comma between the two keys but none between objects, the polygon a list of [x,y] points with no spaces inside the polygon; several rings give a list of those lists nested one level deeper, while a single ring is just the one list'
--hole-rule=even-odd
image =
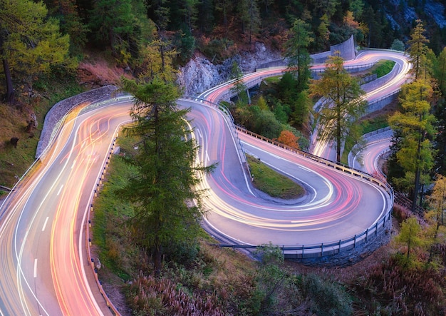
[{"label": "slim dark green conifer in front of the upper road, right of grey cliff", "polygon": [[310,26],[300,19],[294,20],[285,44],[285,57],[288,58],[288,70],[296,76],[299,92],[307,88],[311,76],[308,46],[313,40]]}]

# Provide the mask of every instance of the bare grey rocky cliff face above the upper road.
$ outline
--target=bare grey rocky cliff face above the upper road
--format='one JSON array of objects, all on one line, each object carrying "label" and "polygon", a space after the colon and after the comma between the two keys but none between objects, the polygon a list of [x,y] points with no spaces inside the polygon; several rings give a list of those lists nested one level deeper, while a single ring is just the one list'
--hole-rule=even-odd
[{"label": "bare grey rocky cliff face above the upper road", "polygon": [[227,81],[231,76],[233,61],[239,63],[244,73],[249,73],[255,71],[261,63],[281,58],[279,52],[266,49],[262,43],[256,43],[254,47],[254,51],[240,53],[218,65],[204,56],[196,55],[186,66],[180,68],[177,82],[184,88],[186,95],[197,96]]}]

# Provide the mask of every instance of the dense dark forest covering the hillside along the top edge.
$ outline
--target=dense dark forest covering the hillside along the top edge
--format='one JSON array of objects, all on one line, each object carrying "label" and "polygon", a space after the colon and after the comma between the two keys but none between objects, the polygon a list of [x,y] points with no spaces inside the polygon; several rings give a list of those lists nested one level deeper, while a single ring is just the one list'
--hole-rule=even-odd
[{"label": "dense dark forest covering the hillside along the top edge", "polygon": [[2,6],[0,54],[6,85],[1,91],[8,100],[13,88],[18,95],[31,95],[39,76],[76,71],[85,49],[108,53],[118,66],[139,76],[153,71],[156,43],[175,49],[176,65],[195,51],[222,62],[249,51],[256,41],[283,51],[296,19],[310,26],[311,53],[351,34],[360,46],[390,48],[395,39],[405,43],[417,17],[426,21],[435,53],[445,39],[445,31],[426,13],[425,1],[45,0],[2,1]]}]

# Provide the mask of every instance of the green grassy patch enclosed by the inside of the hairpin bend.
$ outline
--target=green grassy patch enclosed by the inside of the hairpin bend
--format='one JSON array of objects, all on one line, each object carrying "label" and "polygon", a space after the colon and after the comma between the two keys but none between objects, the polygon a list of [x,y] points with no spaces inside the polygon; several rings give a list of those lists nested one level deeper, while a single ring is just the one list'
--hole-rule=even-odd
[{"label": "green grassy patch enclosed by the inside of the hairpin bend", "polygon": [[304,188],[285,175],[272,170],[259,159],[247,155],[254,187],[274,198],[299,198],[305,194]]}]

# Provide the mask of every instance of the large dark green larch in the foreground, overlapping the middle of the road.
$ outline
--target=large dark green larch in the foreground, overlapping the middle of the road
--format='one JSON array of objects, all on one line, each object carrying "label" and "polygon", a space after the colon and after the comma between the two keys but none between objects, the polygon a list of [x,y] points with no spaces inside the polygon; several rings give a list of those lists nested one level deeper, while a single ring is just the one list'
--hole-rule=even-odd
[{"label": "large dark green larch in the foreground, overlapping the middle of the road", "polygon": [[173,83],[154,78],[138,84],[123,78],[122,85],[135,96],[134,124],[126,131],[140,143],[138,154],[126,159],[137,174],[118,194],[133,203],[130,231],[153,256],[158,274],[166,248],[194,244],[205,213],[199,175],[214,165],[197,165],[198,148],[185,120],[189,110],[177,107],[180,91]]}]

